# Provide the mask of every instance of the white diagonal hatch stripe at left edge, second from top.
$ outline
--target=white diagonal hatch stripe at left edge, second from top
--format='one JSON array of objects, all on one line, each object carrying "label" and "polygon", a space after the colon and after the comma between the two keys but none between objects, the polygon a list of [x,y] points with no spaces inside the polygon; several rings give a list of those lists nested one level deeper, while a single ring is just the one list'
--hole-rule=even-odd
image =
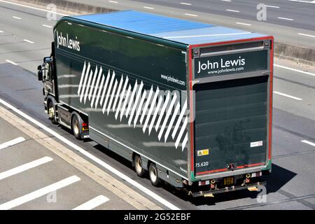
[{"label": "white diagonal hatch stripe at left edge, second from top", "polygon": [[15,167],[13,169],[9,169],[5,172],[0,173],[0,180],[6,179],[9,176],[13,176],[15,174],[20,174],[22,172],[27,171],[28,169],[38,167],[38,166],[43,165],[44,163],[50,162],[50,161],[52,161],[52,158],[45,156],[45,157],[40,158],[38,160],[34,160],[32,162],[27,162],[24,165],[20,165],[18,167]]}]

